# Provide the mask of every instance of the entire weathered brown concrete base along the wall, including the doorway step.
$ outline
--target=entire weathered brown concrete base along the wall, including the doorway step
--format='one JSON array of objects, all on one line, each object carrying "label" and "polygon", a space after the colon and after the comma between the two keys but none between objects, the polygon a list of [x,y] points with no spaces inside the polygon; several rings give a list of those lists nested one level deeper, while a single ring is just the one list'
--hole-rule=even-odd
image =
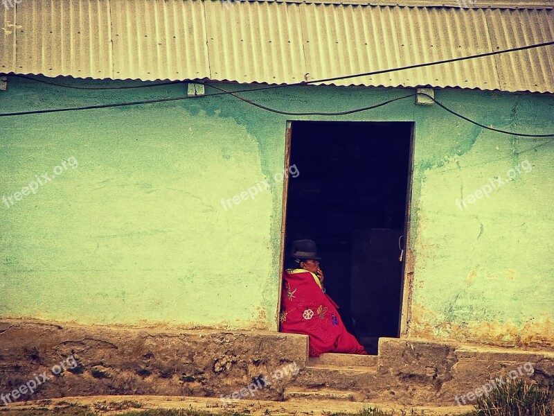
[{"label": "entire weathered brown concrete base along the wall, including the doorway step", "polygon": [[300,394],[351,395],[407,406],[453,406],[474,403],[471,395],[510,372],[541,384],[554,378],[553,352],[420,339],[381,338],[376,358],[330,354],[308,362],[307,356],[307,337],[294,334],[3,320],[0,394],[18,390],[12,401],[93,395],[279,401]]}]

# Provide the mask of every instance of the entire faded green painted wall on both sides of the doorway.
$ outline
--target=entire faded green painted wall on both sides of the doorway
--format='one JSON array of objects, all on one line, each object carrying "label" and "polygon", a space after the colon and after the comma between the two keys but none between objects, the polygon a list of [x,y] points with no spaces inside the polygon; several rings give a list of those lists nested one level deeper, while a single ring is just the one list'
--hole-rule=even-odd
[{"label": "entire faded green painted wall on both sides of the doorway", "polygon": [[[185,88],[102,92],[10,78],[0,105],[2,112],[74,107],[181,96]],[[289,87],[243,95],[280,110],[328,112],[410,92]],[[497,128],[554,132],[552,96],[447,89],[436,98]],[[64,159],[78,162],[36,194],[0,206],[1,314],[276,329],[283,185],[274,175],[283,171],[286,120],[415,121],[407,334],[554,343],[553,139],[499,135],[413,103],[287,117],[217,96],[0,118],[0,196]],[[518,164],[514,180],[488,198],[456,205]],[[255,199],[224,208],[222,199],[257,184]]]}]

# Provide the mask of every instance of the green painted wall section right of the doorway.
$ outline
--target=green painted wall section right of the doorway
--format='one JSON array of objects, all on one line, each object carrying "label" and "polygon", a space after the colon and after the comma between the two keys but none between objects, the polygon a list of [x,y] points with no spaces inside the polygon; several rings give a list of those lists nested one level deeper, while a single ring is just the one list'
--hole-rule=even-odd
[{"label": "green painted wall section right of the doorway", "polygon": [[[552,96],[438,98],[485,125],[554,133]],[[554,346],[554,138],[444,114],[416,126],[409,335]]]}]

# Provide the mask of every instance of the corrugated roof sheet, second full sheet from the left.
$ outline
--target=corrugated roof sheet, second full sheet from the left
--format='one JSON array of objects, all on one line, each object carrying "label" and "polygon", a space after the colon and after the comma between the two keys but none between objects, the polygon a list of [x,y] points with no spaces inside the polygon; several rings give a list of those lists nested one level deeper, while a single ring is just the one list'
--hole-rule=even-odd
[{"label": "corrugated roof sheet, second full sheet from the left", "polygon": [[202,1],[110,1],[114,78],[209,78]]}]

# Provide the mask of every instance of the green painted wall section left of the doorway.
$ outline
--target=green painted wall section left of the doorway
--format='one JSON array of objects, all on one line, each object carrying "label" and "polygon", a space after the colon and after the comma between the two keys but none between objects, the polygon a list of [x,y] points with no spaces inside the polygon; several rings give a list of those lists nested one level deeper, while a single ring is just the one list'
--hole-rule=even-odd
[{"label": "green painted wall section left of the doorway", "polygon": [[[87,92],[16,79],[0,100],[15,111],[182,95],[186,85]],[[283,171],[285,127],[228,106],[1,119],[1,195],[54,177],[1,207],[2,315],[273,329],[282,189],[228,211],[220,201]],[[53,175],[69,157],[78,167]]]}]

